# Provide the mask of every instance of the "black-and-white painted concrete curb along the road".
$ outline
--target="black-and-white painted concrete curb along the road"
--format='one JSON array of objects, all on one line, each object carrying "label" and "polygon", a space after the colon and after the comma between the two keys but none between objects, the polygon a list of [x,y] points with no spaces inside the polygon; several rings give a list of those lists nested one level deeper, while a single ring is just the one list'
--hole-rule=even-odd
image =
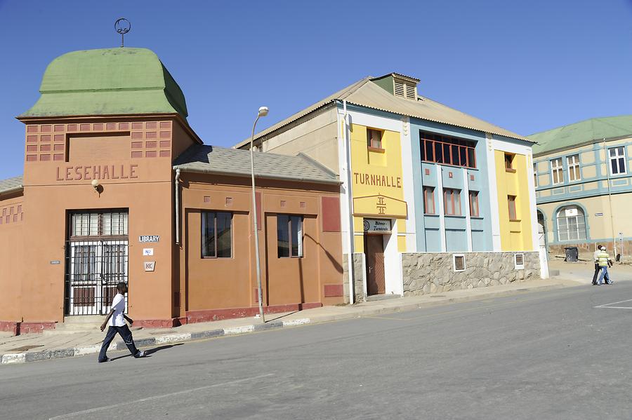
[{"label": "black-and-white painted concrete curb along the road", "polygon": [[[200,339],[208,339],[213,337],[233,336],[239,334],[248,334],[250,332],[276,330],[284,327],[298,327],[301,325],[308,325],[314,323],[326,323],[335,320],[345,320],[353,318],[362,318],[362,316],[379,315],[381,313],[395,313],[412,311],[415,309],[429,308],[433,306],[440,306],[442,304],[451,304],[456,302],[469,302],[473,300],[489,299],[490,297],[503,297],[518,294],[522,292],[543,292],[546,290],[560,289],[562,287],[568,287],[562,283],[554,283],[551,285],[544,285],[538,287],[525,287],[523,289],[515,290],[502,290],[498,292],[489,292],[484,294],[478,294],[475,296],[462,296],[462,297],[449,297],[447,299],[440,299],[435,302],[417,302],[412,304],[401,304],[397,306],[378,306],[356,309],[350,313],[339,313],[328,316],[317,316],[316,318],[298,318],[287,321],[272,321],[265,324],[254,325],[242,325],[240,327],[227,327],[216,330],[207,330],[199,332],[185,332],[179,334],[158,334],[156,337],[147,337],[143,339],[134,340],[137,347],[155,346],[157,344],[173,344],[183,343],[185,341],[194,341]],[[60,348],[53,350],[36,351],[30,353],[8,353],[1,356],[1,365],[15,365],[18,363],[30,363],[39,362],[41,360],[51,360],[60,358],[70,358],[82,355],[96,354],[100,351],[101,346],[87,346],[87,347],[71,347]],[[124,350],[127,346],[124,341],[116,341],[110,344],[110,351]]]}]

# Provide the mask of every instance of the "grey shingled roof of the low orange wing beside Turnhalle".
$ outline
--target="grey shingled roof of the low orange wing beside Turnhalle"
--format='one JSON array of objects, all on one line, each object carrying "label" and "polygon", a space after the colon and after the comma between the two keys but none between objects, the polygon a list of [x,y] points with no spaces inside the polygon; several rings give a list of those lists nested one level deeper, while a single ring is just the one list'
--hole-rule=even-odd
[{"label": "grey shingled roof of the low orange wing beside Turnhalle", "polygon": [[[194,144],[173,163],[174,169],[216,175],[250,177],[250,151]],[[254,153],[255,177],[340,184],[334,172],[303,154]]]}]

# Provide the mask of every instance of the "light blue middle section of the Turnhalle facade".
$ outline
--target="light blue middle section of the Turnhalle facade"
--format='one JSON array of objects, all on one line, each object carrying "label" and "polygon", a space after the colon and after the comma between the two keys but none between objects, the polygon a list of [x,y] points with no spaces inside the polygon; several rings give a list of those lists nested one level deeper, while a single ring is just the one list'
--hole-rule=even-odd
[{"label": "light blue middle section of the Turnhalle facade", "polygon": [[[470,140],[476,143],[476,168],[461,168],[454,165],[445,165],[421,160],[420,130],[428,133],[447,135],[462,140]],[[415,198],[415,220],[417,250],[419,252],[441,252],[441,219],[445,224],[445,251],[468,251],[468,226],[466,214],[469,213],[469,197],[463,194],[464,180],[469,191],[478,191],[478,206],[480,217],[470,217],[470,235],[472,251],[489,252],[493,250],[492,243],[492,209],[489,194],[488,170],[485,133],[467,128],[449,126],[432,121],[424,121],[418,118],[410,120],[410,135],[412,142],[413,184]],[[437,171],[437,168],[439,169]],[[494,170],[492,162],[491,170]],[[438,208],[443,194],[439,184],[444,189],[452,188],[461,190],[461,216],[440,215]],[[433,187],[435,201],[435,215],[424,214],[423,187]],[[494,191],[495,192],[495,191]]]}]

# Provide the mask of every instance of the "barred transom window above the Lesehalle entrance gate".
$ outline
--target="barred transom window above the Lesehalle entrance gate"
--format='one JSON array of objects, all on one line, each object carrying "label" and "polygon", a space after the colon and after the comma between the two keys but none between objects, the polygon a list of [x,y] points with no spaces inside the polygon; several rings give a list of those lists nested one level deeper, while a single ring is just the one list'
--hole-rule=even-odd
[{"label": "barred transom window above the Lesehalle entrance gate", "polygon": [[127,236],[126,211],[72,213],[70,236]]}]

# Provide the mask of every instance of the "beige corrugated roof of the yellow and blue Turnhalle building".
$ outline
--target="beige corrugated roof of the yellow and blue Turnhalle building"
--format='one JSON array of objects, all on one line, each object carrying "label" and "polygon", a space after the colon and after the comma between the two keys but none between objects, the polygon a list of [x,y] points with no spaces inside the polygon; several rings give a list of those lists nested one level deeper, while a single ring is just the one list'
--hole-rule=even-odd
[{"label": "beige corrugated roof of the yellow and blue Turnhalle building", "polygon": [[[386,76],[390,76],[390,74]],[[409,79],[413,79],[410,76],[406,77],[408,77]],[[329,95],[323,100],[310,105],[302,111],[298,111],[296,114],[289,116],[283,121],[279,121],[270,128],[257,133],[254,137],[255,140],[268,135],[275,130],[278,130],[279,128],[287,126],[289,123],[298,120],[298,118],[310,114],[311,112],[320,109],[321,107],[324,107],[331,102],[334,102],[336,100],[346,100],[349,104],[354,104],[361,107],[377,109],[379,111],[392,112],[393,114],[400,114],[402,116],[421,118],[423,120],[434,121],[437,123],[445,123],[449,124],[450,126],[470,128],[471,130],[478,130],[485,133],[510,137],[529,143],[533,142],[532,140],[527,139],[527,137],[523,137],[509,130],[505,130],[504,128],[501,128],[499,126],[494,126],[494,124],[492,123],[488,123],[487,121],[483,121],[480,118],[476,118],[461,111],[457,111],[456,109],[447,107],[444,104],[440,104],[439,102],[435,102],[429,99],[428,97],[418,95],[418,99],[416,101],[397,97],[376,85],[376,83],[372,81],[374,79],[381,78],[365,77],[364,79],[357,81],[347,86],[346,88],[338,90],[338,92],[334,93],[333,95]],[[236,144],[235,147],[243,147],[249,142],[250,139],[246,139]]]}]

